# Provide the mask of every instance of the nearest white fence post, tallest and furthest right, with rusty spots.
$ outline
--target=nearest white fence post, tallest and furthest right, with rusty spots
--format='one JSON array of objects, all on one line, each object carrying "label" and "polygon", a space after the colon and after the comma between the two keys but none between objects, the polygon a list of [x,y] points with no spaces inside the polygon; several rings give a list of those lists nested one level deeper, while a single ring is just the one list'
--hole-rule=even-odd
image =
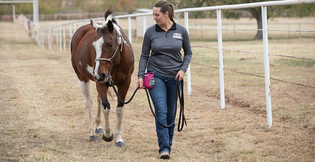
[{"label": "nearest white fence post, tallest and furthest right, with rusty spots", "polygon": [[262,39],[263,39],[263,44],[264,44],[264,68],[265,68],[267,125],[268,125],[268,127],[271,127],[272,126],[272,114],[271,114],[271,94],[270,94],[268,26],[267,26],[267,9],[264,6],[261,6],[261,17],[262,17]]}]

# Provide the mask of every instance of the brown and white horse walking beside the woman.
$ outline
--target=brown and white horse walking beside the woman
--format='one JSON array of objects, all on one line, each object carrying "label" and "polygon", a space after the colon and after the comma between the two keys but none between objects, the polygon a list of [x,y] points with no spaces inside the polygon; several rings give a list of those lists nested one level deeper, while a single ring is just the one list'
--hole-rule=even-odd
[{"label": "brown and white horse walking beside the woman", "polygon": [[[103,134],[103,140],[113,140],[113,133],[109,123],[110,103],[107,100],[107,90],[111,82],[118,88],[118,95],[125,100],[131,74],[134,71],[134,53],[127,36],[113,19],[112,10],[106,10],[104,24],[95,23],[80,27],[71,40],[71,61],[79,79],[79,86],[84,96],[85,108],[89,118],[89,141],[98,141],[96,134]],[[92,121],[92,99],[89,80],[96,82],[97,116],[96,129]],[[122,139],[121,124],[123,120],[124,104],[117,101],[116,146],[125,146]],[[101,127],[101,111],[104,114],[104,132]]]}]

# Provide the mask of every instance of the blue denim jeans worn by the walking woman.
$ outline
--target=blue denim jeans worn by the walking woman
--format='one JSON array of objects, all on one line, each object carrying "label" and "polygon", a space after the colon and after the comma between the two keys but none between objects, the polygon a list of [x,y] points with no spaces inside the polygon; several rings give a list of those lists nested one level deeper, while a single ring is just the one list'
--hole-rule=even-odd
[{"label": "blue denim jeans worn by the walking woman", "polygon": [[[148,69],[147,72],[152,72],[152,70]],[[154,72],[154,78],[155,84],[153,88],[149,90],[149,93],[155,109],[155,115],[162,124],[169,125],[174,119],[175,104],[177,104],[178,99],[175,98],[176,79],[175,77],[163,77],[156,72]],[[179,87],[181,90],[181,84]],[[155,120],[155,126],[157,141],[160,147],[158,152],[160,154],[164,151],[171,153],[175,122],[171,127],[165,128]]]}]

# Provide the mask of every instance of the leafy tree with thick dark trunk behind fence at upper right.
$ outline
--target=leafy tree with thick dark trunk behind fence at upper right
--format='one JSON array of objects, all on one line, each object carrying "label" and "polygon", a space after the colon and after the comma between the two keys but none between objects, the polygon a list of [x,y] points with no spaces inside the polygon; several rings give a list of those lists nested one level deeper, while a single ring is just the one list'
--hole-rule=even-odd
[{"label": "leafy tree with thick dark trunk behind fence at upper right", "polygon": [[[178,6],[178,8],[192,8],[217,5],[232,5],[243,3],[266,2],[272,0],[170,0],[170,3]],[[242,9],[248,11],[253,18],[257,20],[257,29],[262,29],[261,7]],[[284,14],[289,17],[303,17],[314,14],[315,4],[290,5],[290,6],[272,6],[267,7],[267,19]],[[223,10],[226,18],[238,19],[242,12],[240,10]],[[262,31],[258,30],[254,39],[262,39]]]}]

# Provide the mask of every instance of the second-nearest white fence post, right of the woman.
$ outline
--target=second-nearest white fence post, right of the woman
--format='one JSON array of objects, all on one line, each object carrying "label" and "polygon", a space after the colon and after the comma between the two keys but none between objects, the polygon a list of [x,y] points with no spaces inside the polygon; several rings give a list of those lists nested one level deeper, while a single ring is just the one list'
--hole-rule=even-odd
[{"label": "second-nearest white fence post, right of the woman", "polygon": [[220,99],[221,109],[225,107],[224,96],[224,76],[223,76],[223,45],[222,45],[222,23],[221,10],[217,9],[217,26],[218,26],[218,50],[219,50],[219,75],[220,75]]}]

